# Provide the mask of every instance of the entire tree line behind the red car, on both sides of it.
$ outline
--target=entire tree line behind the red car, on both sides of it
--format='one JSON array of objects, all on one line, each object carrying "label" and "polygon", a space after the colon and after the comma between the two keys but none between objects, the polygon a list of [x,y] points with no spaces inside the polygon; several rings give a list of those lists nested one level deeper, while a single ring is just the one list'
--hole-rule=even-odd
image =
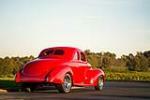
[{"label": "entire tree line behind the red car, on both sides of it", "polygon": [[[106,71],[150,71],[150,51],[122,55],[120,58],[110,52],[95,53],[85,50],[85,54],[92,67]],[[0,58],[0,77],[14,76],[25,63],[33,59],[33,56]]]}]

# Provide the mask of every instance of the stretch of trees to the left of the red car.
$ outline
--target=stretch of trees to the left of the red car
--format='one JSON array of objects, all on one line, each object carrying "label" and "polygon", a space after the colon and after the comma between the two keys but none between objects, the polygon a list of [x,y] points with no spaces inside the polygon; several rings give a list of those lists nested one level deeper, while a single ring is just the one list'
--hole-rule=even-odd
[{"label": "stretch of trees to the left of the red car", "polygon": [[31,60],[33,56],[26,57],[5,57],[0,58],[0,77],[12,77],[23,65]]}]

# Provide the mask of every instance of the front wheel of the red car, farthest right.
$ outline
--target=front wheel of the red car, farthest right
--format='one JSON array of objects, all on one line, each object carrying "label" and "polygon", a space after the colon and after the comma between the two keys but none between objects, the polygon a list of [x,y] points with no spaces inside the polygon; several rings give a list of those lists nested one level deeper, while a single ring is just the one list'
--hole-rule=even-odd
[{"label": "front wheel of the red car, farthest right", "polygon": [[104,86],[103,76],[99,76],[97,79],[97,85],[95,86],[95,90],[102,91]]}]

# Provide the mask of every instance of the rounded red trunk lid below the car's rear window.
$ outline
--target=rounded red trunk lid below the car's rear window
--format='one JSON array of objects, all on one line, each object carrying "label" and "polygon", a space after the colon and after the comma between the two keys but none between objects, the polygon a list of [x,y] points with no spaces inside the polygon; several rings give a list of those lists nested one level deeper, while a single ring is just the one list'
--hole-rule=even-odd
[{"label": "rounded red trunk lid below the car's rear window", "polygon": [[61,67],[64,64],[60,59],[36,59],[24,66],[22,74],[26,76],[41,76],[47,75],[56,67]]}]

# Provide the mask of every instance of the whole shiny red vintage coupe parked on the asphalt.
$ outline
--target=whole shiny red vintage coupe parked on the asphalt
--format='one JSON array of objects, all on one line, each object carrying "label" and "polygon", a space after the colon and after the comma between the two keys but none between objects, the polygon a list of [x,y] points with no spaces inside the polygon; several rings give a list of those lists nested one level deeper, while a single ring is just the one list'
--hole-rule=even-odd
[{"label": "whole shiny red vintage coupe parked on the asphalt", "polygon": [[38,87],[55,86],[68,93],[72,86],[93,86],[102,90],[105,74],[93,69],[84,52],[73,47],[53,47],[41,51],[38,58],[28,62],[16,73],[21,89],[33,91]]}]

